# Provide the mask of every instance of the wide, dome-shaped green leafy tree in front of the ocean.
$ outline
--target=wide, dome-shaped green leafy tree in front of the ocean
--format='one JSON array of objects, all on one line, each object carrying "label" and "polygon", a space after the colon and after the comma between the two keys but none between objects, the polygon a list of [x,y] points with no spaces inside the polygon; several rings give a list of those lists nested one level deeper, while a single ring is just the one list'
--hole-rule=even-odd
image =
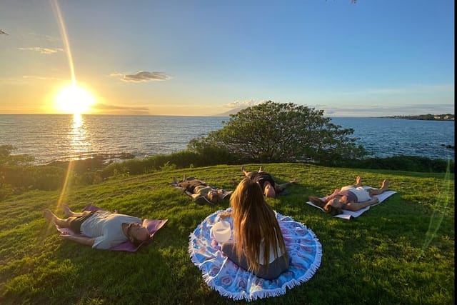
[{"label": "wide, dome-shaped green leafy tree in front of the ocean", "polygon": [[363,156],[353,129],[341,129],[323,117],[323,110],[293,103],[267,101],[231,114],[224,127],[192,139],[189,150],[203,153],[208,147],[228,151],[240,162],[319,161],[334,164]]}]

